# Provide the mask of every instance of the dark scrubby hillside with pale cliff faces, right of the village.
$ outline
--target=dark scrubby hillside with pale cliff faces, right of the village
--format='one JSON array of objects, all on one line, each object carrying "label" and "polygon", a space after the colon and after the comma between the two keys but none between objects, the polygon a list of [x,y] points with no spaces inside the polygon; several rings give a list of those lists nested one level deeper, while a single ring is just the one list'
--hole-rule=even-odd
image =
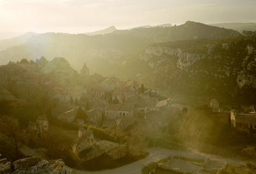
[{"label": "dark scrubby hillside with pale cliff faces, right of the village", "polygon": [[[193,40],[150,45],[141,61],[151,68],[140,80],[176,94],[227,100],[255,96],[256,40]],[[150,81],[147,81],[150,79]]]}]

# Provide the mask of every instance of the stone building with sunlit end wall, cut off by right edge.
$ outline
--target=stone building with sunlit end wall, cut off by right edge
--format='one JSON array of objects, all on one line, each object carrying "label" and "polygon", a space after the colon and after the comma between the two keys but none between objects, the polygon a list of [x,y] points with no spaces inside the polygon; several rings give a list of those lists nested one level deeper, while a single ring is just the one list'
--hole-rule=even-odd
[{"label": "stone building with sunlit end wall, cut off by right edge", "polygon": [[237,113],[232,110],[230,122],[233,127],[243,131],[256,131],[256,113]]}]

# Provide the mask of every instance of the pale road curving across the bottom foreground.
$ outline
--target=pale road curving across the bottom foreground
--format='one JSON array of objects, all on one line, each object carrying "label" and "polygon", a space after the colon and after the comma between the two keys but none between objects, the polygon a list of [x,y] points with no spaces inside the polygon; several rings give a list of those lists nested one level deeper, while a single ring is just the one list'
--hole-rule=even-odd
[{"label": "pale road curving across the bottom foreground", "polygon": [[119,168],[114,168],[111,170],[101,170],[101,171],[79,171],[77,174],[141,174],[142,168],[150,162],[157,162],[160,159],[164,159],[170,155],[180,155],[184,157],[191,157],[195,159],[212,159],[215,161],[229,162],[231,164],[244,164],[244,161],[238,159],[228,159],[225,157],[220,157],[216,155],[200,153],[196,150],[172,150],[163,148],[148,148],[147,151],[149,155],[144,159],[132,162],[125,166]]}]

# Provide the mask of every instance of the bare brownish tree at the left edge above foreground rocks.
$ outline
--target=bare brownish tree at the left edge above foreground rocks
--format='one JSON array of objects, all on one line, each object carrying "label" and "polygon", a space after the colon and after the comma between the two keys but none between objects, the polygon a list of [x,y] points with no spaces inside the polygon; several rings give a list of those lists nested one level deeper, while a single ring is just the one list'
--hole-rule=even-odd
[{"label": "bare brownish tree at the left edge above foreground rocks", "polygon": [[0,118],[0,133],[15,148],[15,154],[19,155],[19,150],[24,145],[24,134],[19,127],[19,123],[16,120],[2,116]]}]

